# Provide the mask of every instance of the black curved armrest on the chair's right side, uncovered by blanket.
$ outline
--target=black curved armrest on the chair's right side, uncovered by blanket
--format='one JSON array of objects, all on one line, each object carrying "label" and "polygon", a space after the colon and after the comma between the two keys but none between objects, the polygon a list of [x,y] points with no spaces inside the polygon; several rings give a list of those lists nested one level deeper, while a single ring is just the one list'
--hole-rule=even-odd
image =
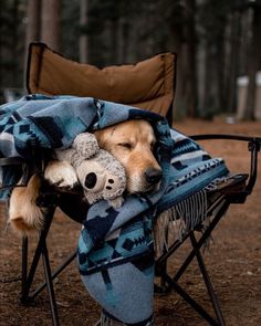
[{"label": "black curved armrest on the chair's right side, uncovered by blanket", "polygon": [[243,136],[243,135],[227,135],[227,134],[205,134],[189,136],[194,140],[210,140],[210,139],[228,139],[248,143],[250,151],[250,173],[246,186],[246,191],[250,194],[257,180],[258,175],[258,153],[260,151],[261,137]]}]

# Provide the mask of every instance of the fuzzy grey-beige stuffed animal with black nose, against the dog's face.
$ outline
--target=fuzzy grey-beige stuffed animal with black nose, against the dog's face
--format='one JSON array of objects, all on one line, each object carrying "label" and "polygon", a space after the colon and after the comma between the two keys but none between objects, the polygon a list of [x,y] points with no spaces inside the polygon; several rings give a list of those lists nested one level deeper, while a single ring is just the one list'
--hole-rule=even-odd
[{"label": "fuzzy grey-beige stuffed animal with black nose, against the dog's face", "polygon": [[74,167],[90,203],[105,199],[114,208],[123,204],[125,170],[111,154],[100,149],[93,134],[80,134],[71,148],[56,150],[55,154],[59,160],[66,160]]}]

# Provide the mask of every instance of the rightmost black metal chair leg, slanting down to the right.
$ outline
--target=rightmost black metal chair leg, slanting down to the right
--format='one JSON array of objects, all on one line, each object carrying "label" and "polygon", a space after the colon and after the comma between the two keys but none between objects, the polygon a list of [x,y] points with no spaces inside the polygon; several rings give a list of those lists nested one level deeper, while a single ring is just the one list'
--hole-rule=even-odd
[{"label": "rightmost black metal chair leg, slanting down to the right", "polygon": [[216,295],[216,293],[213,291],[213,286],[212,286],[210,276],[208,274],[207,267],[206,267],[206,265],[203,263],[202,255],[201,255],[200,250],[198,248],[197,240],[196,240],[195,234],[192,232],[190,234],[190,241],[191,241],[192,248],[195,250],[195,254],[196,254],[196,257],[197,257],[197,261],[198,261],[198,265],[199,265],[200,272],[202,274],[206,287],[208,290],[208,294],[210,296],[210,299],[211,299],[216,316],[218,318],[219,325],[225,326],[226,323],[225,323],[225,319],[223,319],[223,316],[222,316],[222,313],[221,313],[221,308],[220,308],[220,305],[219,305],[218,297],[217,297],[217,295]]}]

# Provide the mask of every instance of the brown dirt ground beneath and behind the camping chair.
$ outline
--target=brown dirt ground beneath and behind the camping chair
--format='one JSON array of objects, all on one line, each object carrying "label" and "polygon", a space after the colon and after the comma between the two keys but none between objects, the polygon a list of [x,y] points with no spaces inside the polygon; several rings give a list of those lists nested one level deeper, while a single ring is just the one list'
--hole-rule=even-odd
[{"label": "brown dirt ground beneath and behind the camping chair", "polygon": [[[175,127],[187,135],[237,133],[261,136],[261,123],[229,125],[222,119],[186,120],[176,124]],[[249,171],[249,153],[246,144],[216,140],[203,143],[203,146],[213,156],[225,157],[232,171]],[[227,325],[231,326],[261,325],[261,155],[259,164],[254,191],[247,203],[231,207],[216,228],[210,249],[205,252],[225,319]],[[21,306],[18,303],[21,287],[21,241],[11,230],[6,231],[6,209],[1,206],[0,325],[52,325],[45,291],[36,297],[32,306]],[[75,250],[80,225],[61,212],[56,212],[48,240],[53,269]],[[36,239],[36,235],[30,238],[30,256]],[[171,259],[169,264],[171,270],[179,263],[181,254]],[[36,274],[36,282],[42,278],[41,271],[42,264]],[[211,312],[196,264],[189,267],[180,282]],[[100,308],[83,287],[75,263],[55,280],[54,290],[61,325],[94,325]],[[155,295],[155,315],[158,326],[207,325],[176,293]]]}]

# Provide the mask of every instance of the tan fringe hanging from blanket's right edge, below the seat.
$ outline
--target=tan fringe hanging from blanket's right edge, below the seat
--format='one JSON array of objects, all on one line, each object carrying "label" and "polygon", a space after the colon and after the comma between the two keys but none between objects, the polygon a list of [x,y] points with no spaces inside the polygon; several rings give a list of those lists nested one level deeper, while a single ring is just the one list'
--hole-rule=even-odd
[{"label": "tan fringe hanging from blanket's right edge, below the seat", "polygon": [[154,225],[156,256],[168,250],[169,236],[182,241],[188,231],[207,222],[207,189],[203,189],[163,212]]}]

